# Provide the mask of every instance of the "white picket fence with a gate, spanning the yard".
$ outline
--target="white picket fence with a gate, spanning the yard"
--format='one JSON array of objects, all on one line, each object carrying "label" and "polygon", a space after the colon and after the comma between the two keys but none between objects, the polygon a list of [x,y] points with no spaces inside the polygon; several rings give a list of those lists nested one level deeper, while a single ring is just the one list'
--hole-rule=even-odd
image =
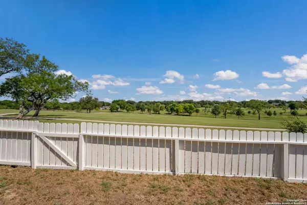
[{"label": "white picket fence with a gate, spanning the yard", "polygon": [[0,164],[307,182],[307,134],[0,120]]}]

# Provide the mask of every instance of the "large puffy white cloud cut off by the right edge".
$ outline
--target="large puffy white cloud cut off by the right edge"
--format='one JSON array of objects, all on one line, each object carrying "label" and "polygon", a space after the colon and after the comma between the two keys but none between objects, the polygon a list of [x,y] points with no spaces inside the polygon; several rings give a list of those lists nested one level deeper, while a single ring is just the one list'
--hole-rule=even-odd
[{"label": "large puffy white cloud cut off by the right edge", "polygon": [[290,68],[282,71],[287,81],[295,82],[300,79],[307,79],[307,54],[301,58],[293,55],[284,55],[281,58],[283,61],[292,65]]}]

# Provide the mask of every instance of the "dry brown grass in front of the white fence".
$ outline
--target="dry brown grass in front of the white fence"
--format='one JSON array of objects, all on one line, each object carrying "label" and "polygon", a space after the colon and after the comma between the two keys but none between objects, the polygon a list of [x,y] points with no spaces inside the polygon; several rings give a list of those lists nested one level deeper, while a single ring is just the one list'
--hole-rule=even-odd
[{"label": "dry brown grass in front of the white fence", "polygon": [[281,180],[0,166],[0,204],[265,204],[307,198]]}]

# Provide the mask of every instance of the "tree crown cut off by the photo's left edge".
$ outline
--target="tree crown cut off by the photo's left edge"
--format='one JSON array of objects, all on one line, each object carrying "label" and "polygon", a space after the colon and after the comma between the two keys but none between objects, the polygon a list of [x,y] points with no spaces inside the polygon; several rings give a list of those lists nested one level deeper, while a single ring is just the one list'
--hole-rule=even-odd
[{"label": "tree crown cut off by the photo's left edge", "polygon": [[0,76],[10,72],[20,72],[24,68],[29,50],[12,38],[0,37]]}]

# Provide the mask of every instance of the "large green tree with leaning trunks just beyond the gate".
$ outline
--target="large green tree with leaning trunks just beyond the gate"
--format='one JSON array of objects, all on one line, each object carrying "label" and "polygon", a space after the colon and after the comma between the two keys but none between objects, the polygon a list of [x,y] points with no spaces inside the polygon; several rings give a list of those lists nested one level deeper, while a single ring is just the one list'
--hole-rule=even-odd
[{"label": "large green tree with leaning trunks just beyond the gate", "polygon": [[[0,95],[19,101],[19,114],[22,118],[35,110],[33,117],[49,100],[67,100],[76,96],[77,91],[87,92],[88,83],[81,83],[74,75],[55,74],[58,66],[45,56],[32,54],[28,56],[25,71],[14,77],[7,78],[0,86]],[[31,106],[26,106],[31,104]]]}]

